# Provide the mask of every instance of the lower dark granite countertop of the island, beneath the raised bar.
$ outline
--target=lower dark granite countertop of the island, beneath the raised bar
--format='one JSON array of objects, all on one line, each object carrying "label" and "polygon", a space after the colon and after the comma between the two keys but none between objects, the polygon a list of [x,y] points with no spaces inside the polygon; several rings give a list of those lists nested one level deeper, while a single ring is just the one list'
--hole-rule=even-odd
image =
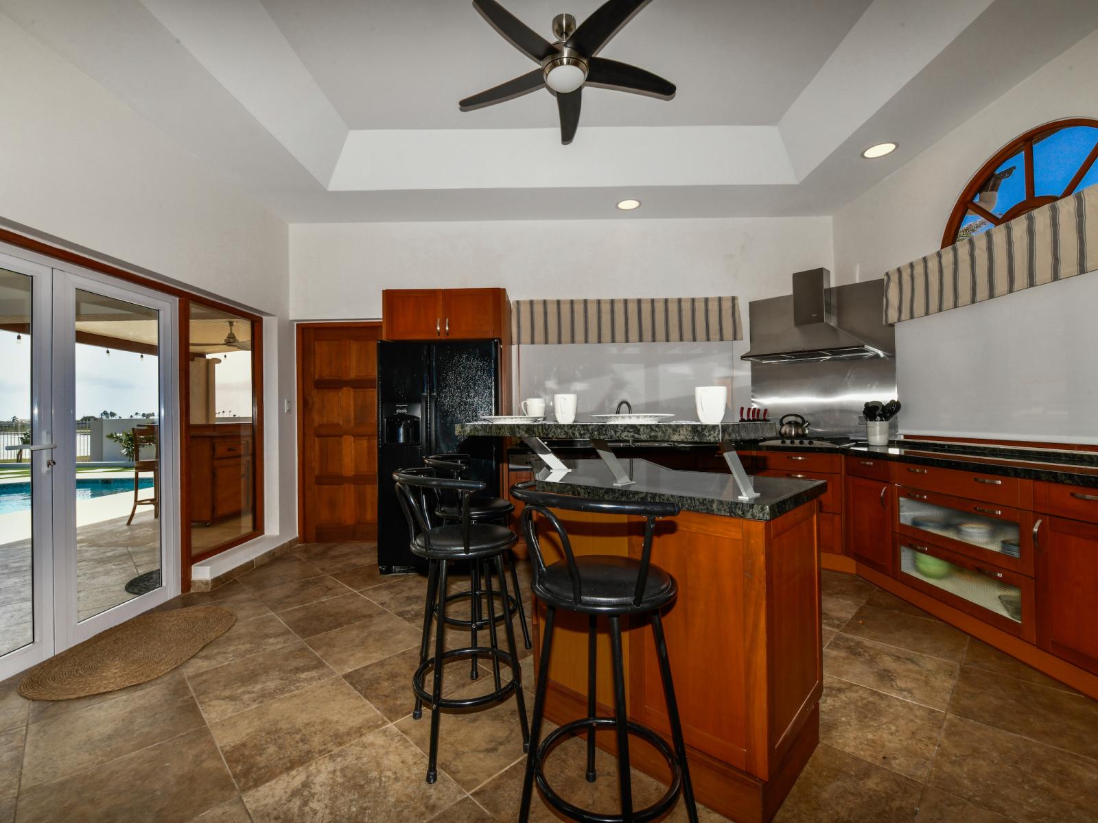
[{"label": "lower dark granite countertop of the island, beneath the raised bar", "polygon": [[601,500],[677,503],[684,511],[743,520],[773,520],[816,499],[827,489],[824,481],[754,477],[759,497],[743,501],[737,497],[739,492],[731,474],[679,471],[647,460],[624,459],[621,463],[636,483],[615,486],[614,475],[601,460],[564,460],[563,463],[572,471],[553,480],[549,469],[541,469],[535,475],[535,487],[540,492]]}]

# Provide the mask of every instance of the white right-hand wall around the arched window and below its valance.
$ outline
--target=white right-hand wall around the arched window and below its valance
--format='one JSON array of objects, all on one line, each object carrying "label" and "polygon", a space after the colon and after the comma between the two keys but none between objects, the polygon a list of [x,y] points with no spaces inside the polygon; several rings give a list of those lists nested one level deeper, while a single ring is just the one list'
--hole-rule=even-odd
[{"label": "white right-hand wall around the arched window and below its valance", "polygon": [[[937,250],[961,189],[1002,145],[1047,121],[1098,117],[1095,78],[1098,33],[842,208],[836,281],[879,278]],[[898,324],[900,431],[1096,442],[1098,375],[1071,356],[1090,336],[1079,306],[1096,292],[1098,273],[1084,274]]]}]

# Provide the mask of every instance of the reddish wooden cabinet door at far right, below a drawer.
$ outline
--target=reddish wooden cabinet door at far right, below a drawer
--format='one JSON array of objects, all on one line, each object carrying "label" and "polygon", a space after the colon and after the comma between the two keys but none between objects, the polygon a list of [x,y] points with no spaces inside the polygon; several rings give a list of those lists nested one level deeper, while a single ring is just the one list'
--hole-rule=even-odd
[{"label": "reddish wooden cabinet door at far right, below a drawer", "polygon": [[1098,525],[1038,517],[1038,645],[1098,674]]}]

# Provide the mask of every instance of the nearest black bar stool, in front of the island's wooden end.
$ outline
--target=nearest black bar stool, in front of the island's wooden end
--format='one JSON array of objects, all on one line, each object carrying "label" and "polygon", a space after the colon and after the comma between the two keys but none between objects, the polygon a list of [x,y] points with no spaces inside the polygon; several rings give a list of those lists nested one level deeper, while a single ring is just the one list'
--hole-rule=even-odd
[{"label": "nearest black bar stool, in front of the island's wooden end", "polygon": [[[691,823],[697,823],[697,807],[694,802],[694,789],[686,764],[686,744],[683,742],[682,724],[679,721],[679,704],[675,702],[671,664],[668,659],[663,622],[660,618],[660,609],[674,600],[677,586],[671,575],[649,562],[656,519],[674,517],[679,514],[679,506],[674,503],[595,500],[556,495],[536,491],[533,481],[517,484],[512,488],[512,494],[526,504],[523,511],[523,529],[534,559],[534,594],[547,607],[537,692],[534,698],[530,745],[526,758],[526,778],[523,782],[523,800],[518,813],[519,821],[526,821],[529,818],[534,783],[537,781],[538,789],[549,805],[572,820],[581,821],[581,823],[625,823],[626,821],[639,823],[654,820],[671,809],[680,794],[683,796]],[[568,532],[552,509],[643,517],[645,541],[640,560],[610,555],[576,557],[572,553]],[[564,551],[563,560],[546,565],[538,542],[536,518],[545,519],[556,531]],[[546,735],[546,739],[539,744],[557,609],[587,615],[587,717],[564,723]],[[607,618],[610,627],[610,654],[614,670],[613,718],[595,717],[595,631],[600,615]],[[626,715],[625,666],[621,656],[623,616],[649,616],[651,619],[674,751],[653,730],[630,721]],[[587,733],[586,778],[589,782],[594,782],[596,777],[595,730],[597,729],[614,729],[617,735],[620,815],[596,814],[569,803],[553,791],[545,776],[545,760],[553,747],[564,737],[574,736],[585,731]],[[663,797],[652,805],[637,811],[632,808],[632,783],[629,775],[630,733],[648,741],[664,757],[671,770],[671,786]]]}]

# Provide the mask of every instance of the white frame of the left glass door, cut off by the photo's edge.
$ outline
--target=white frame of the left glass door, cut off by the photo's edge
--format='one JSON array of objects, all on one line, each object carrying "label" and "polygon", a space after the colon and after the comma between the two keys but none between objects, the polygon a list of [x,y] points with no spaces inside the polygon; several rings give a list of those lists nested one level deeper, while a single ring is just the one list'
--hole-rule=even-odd
[{"label": "white frame of the left glass door, cut off by the photo's edge", "polygon": [[[0,251],[0,268],[31,278],[31,443],[53,442],[51,390],[51,316],[53,272],[48,266]],[[34,640],[0,657],[0,679],[33,666],[54,654],[53,590],[53,458],[48,450],[31,452],[31,590],[34,598]]]}]

